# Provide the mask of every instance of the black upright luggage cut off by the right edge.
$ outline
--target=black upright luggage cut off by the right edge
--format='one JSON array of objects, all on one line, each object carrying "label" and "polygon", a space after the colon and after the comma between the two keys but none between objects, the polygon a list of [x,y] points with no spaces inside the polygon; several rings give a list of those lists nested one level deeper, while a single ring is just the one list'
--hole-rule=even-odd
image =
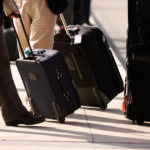
[{"label": "black upright luggage cut off by the right edge", "polygon": [[[131,42],[131,46],[127,49],[126,118],[132,120],[133,123],[136,121],[139,125],[143,124],[144,121],[150,121],[150,38],[146,34],[144,36],[144,33],[150,31],[150,27],[147,26],[147,22],[149,23],[148,20],[150,20],[149,7],[149,0],[140,0],[137,3],[128,0],[128,31],[129,33],[137,32],[137,38],[142,38],[139,38],[139,42],[137,41],[133,45]],[[139,12],[138,17],[135,15],[137,9]],[[131,16],[134,20],[131,19]],[[137,24],[137,20],[139,24]],[[132,38],[130,37],[130,39]]]}]

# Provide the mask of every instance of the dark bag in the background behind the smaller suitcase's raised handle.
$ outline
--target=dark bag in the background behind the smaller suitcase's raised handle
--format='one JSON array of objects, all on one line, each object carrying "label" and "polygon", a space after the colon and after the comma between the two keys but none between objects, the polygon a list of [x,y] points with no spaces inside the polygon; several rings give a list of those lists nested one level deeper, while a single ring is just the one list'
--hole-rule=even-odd
[{"label": "dark bag in the background behind the smaller suitcase's raised handle", "polygon": [[9,59],[14,61],[19,58],[16,36],[13,28],[8,28],[4,30],[4,36],[6,41],[6,46],[9,54]]}]

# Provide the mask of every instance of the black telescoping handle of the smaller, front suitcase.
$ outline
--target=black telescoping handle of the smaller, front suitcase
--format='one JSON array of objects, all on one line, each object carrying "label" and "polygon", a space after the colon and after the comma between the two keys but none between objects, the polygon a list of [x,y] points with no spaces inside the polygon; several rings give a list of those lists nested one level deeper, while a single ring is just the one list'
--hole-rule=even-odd
[{"label": "black telescoping handle of the smaller, front suitcase", "polygon": [[[13,13],[13,14],[14,14],[14,13]],[[21,15],[20,15],[20,14],[18,14],[18,15],[14,14],[14,15],[17,16],[17,17],[20,19],[22,29],[23,29],[23,31],[24,31],[24,34],[25,34],[25,37],[26,37],[28,46],[29,46],[30,51],[31,51],[32,59],[35,60],[35,57],[34,57],[34,54],[33,54],[33,51],[32,51],[32,48],[31,48],[31,45],[30,45],[30,42],[29,42],[29,39],[28,39],[26,30],[25,30],[25,27],[24,27],[24,24],[23,24],[23,21],[22,21]],[[19,40],[19,36],[18,36],[18,34],[17,34],[16,28],[15,28],[15,26],[14,26],[13,19],[11,19],[10,16],[9,16],[9,18],[10,18],[10,22],[11,22],[13,28],[14,28],[14,32],[15,32],[15,34],[16,34],[16,38],[17,38],[17,40],[18,40],[18,44],[19,44],[19,47],[20,47],[20,49],[21,49],[23,58],[25,59],[25,54],[24,54],[23,48],[22,48],[22,46],[21,46],[21,42],[20,42],[20,40]]]}]

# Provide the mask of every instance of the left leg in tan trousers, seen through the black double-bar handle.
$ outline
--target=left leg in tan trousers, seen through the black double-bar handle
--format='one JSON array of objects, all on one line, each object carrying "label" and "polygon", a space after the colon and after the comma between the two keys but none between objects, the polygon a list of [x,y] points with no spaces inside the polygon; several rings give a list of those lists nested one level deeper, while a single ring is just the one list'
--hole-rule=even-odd
[{"label": "left leg in tan trousers, seen through the black double-bar handle", "polygon": [[[31,18],[30,18],[30,10],[31,10],[31,0],[15,0],[16,5],[19,8],[22,21],[24,23],[27,36],[29,38],[30,36],[30,26],[31,26]],[[26,47],[28,46],[24,31],[22,29],[22,25],[20,23],[20,19],[14,19],[14,25],[16,27],[17,34],[19,36],[19,40],[21,42],[21,46],[23,48],[23,51],[25,51]],[[18,44],[19,54],[22,56],[22,52],[20,50],[19,44]]]}]

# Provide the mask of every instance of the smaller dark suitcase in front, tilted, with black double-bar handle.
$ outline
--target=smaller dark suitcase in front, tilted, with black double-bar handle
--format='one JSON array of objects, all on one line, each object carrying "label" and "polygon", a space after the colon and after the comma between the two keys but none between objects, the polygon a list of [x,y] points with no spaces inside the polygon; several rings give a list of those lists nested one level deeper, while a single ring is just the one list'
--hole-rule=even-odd
[{"label": "smaller dark suitcase in front, tilted, with black double-bar handle", "polygon": [[[21,17],[20,21],[22,23]],[[72,114],[81,106],[79,95],[63,56],[57,50],[35,49],[32,52],[29,41],[28,44],[31,57],[25,57],[22,50],[23,57],[16,61],[16,65],[33,111],[36,115],[57,119],[63,123],[67,115]],[[20,42],[19,45],[21,46]]]}]

